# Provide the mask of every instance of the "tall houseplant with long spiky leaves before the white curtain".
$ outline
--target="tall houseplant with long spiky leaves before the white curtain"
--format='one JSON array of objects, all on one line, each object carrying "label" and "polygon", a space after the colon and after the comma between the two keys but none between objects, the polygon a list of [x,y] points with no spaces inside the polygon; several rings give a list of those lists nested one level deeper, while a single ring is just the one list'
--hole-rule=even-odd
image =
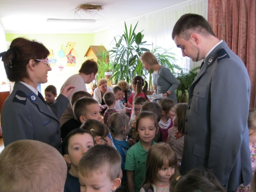
[{"label": "tall houseplant with long spiky leaves before the white curtain", "polygon": [[122,35],[114,37],[114,46],[111,53],[111,58],[113,61],[113,76],[114,83],[117,83],[119,80],[126,80],[128,83],[131,78],[135,75],[142,75],[136,73],[136,67],[142,64],[139,61],[140,55],[143,51],[149,51],[146,48],[141,47],[145,45],[147,41],[142,41],[144,35],[142,32],[138,32],[135,34],[135,29],[138,25],[132,29],[132,25],[130,26],[130,30],[127,30],[126,23],[124,23],[125,31]]}]

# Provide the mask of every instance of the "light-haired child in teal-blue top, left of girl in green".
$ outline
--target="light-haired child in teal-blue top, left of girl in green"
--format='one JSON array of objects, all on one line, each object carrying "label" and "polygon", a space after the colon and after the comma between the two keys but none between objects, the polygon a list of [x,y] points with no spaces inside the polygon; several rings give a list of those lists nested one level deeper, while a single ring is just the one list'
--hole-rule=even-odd
[{"label": "light-haired child in teal-blue top, left of girl in green", "polygon": [[127,150],[130,148],[126,140],[124,139],[129,129],[129,117],[124,113],[114,113],[109,118],[110,131],[113,136],[113,142],[117,148],[117,151],[121,155],[121,168],[123,171],[122,187],[119,191],[127,191],[127,177],[125,171],[125,160]]}]

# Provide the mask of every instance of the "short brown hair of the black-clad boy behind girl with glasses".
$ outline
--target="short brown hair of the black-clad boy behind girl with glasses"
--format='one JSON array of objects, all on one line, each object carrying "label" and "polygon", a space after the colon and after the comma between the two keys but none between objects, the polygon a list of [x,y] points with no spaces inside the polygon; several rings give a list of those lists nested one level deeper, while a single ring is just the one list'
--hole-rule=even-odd
[{"label": "short brown hair of the black-clad boy behind girl with glasses", "polygon": [[[77,120],[80,119],[81,115],[86,114],[87,106],[92,104],[99,104],[95,99],[90,97],[81,97],[73,105],[73,112]],[[79,120],[80,121],[80,120]]]}]

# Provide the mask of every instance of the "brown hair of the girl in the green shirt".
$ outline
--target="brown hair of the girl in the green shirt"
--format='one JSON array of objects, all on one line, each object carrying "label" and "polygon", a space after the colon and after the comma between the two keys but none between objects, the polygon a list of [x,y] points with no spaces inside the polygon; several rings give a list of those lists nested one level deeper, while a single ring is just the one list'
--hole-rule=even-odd
[{"label": "brown hair of the girl in the green shirt", "polygon": [[151,111],[141,111],[138,115],[137,115],[137,119],[136,119],[136,126],[135,129],[133,131],[133,138],[137,138],[138,136],[138,126],[139,126],[139,121],[142,118],[149,118],[151,120],[154,121],[154,126],[156,127],[156,135],[158,133],[158,121],[157,121],[157,115],[154,114]]}]

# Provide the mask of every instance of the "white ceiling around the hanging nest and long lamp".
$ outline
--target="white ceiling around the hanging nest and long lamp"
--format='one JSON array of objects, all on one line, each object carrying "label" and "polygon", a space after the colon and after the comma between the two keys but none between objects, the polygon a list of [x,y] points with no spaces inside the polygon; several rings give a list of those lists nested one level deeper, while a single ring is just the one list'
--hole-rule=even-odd
[{"label": "white ceiling around the hanging nest and long lamp", "polygon": [[[0,0],[5,33],[94,33],[108,26],[159,11],[187,0]],[[96,14],[75,14],[81,4],[97,4]],[[46,22],[51,19],[94,19],[95,23]]]}]

